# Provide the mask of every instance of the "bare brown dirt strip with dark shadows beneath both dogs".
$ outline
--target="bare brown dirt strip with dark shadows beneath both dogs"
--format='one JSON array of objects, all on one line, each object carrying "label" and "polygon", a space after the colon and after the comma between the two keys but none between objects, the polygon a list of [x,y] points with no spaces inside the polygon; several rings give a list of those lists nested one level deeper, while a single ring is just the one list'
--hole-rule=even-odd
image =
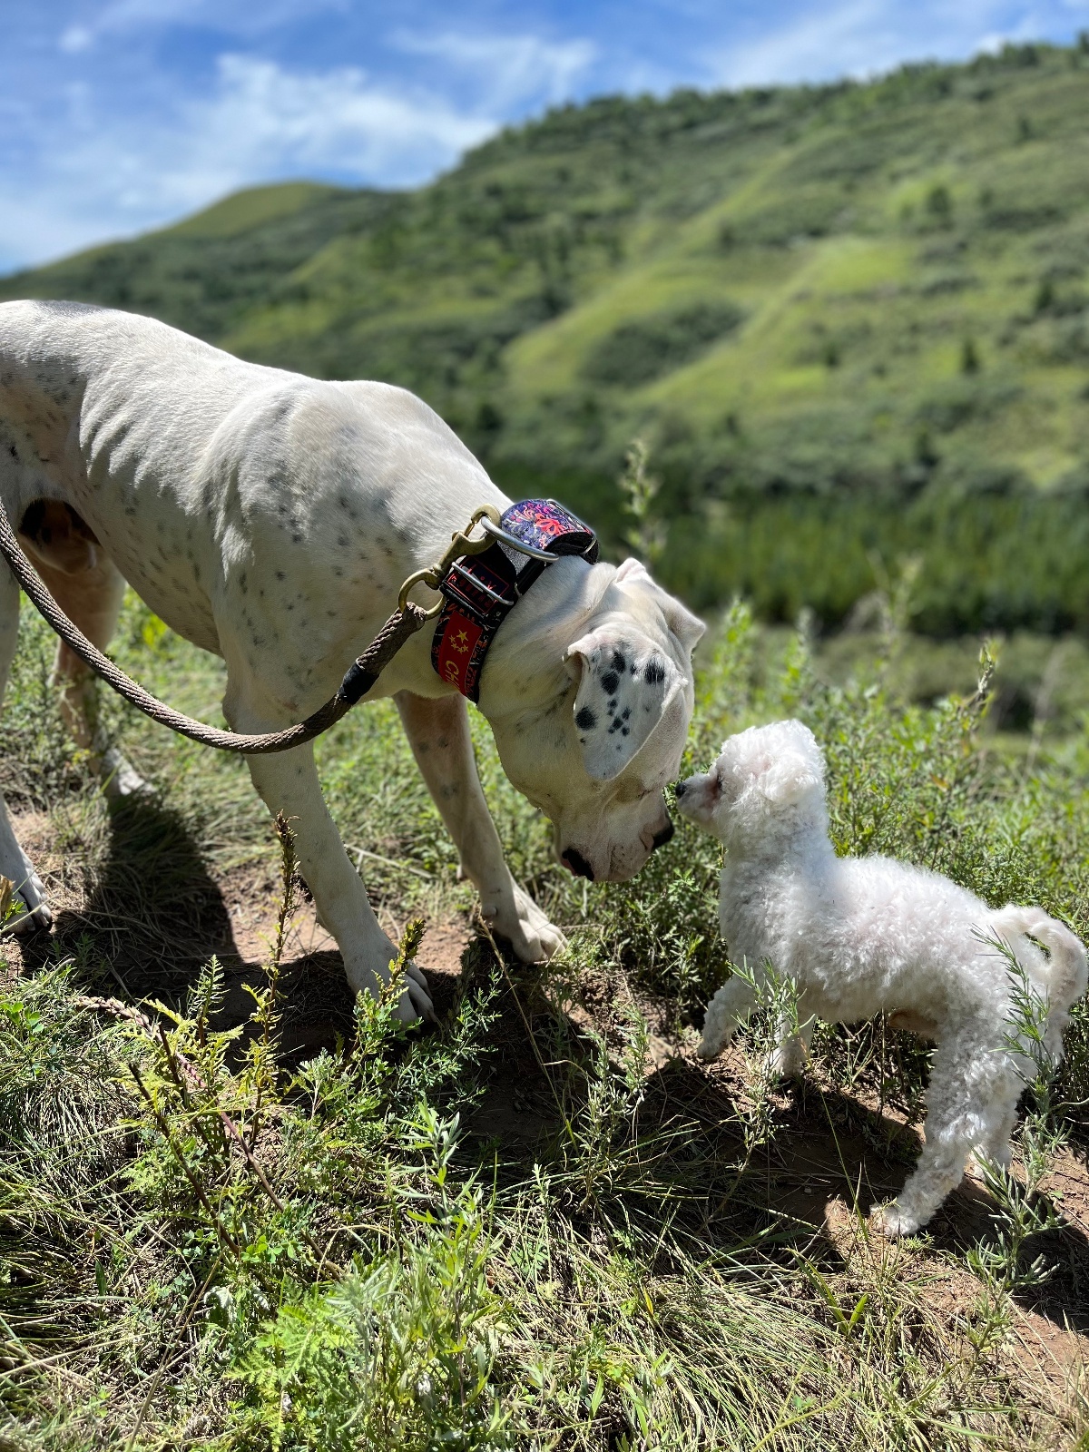
[{"label": "bare brown dirt strip with dark shadows beneath both dogs", "polygon": [[[155,809],[151,809],[155,817]],[[279,883],[272,854],[222,873],[196,861],[176,823],[141,822],[125,860],[107,867],[93,894],[83,889],[80,851],[58,842],[55,820],[26,815],[16,831],[48,881],[57,908],[55,931],[15,939],[6,954],[9,973],[74,957],[91,992],[118,992],[177,999],[200,963],[216,954],[227,974],[224,1025],[244,1022],[253,1000],[244,984],[261,980],[276,932]],[[158,833],[158,835],[155,835]],[[141,848],[142,842],[154,842]],[[163,845],[166,844],[166,845]],[[388,913],[391,935],[404,923]],[[439,1016],[456,1003],[460,984],[491,954],[465,918],[428,926],[420,966],[427,971]],[[491,960],[489,960],[491,961]],[[285,968],[283,1035],[293,1061],[334,1048],[351,1031],[351,1000],[333,938],[321,928],[309,902],[301,902],[290,923]],[[534,970],[507,964],[507,992],[494,1025],[497,1054],[488,1090],[468,1125],[488,1141],[531,1149],[553,1133],[555,1086],[534,1050],[529,1028],[546,1012],[534,992]],[[607,1038],[617,1028],[617,1003],[630,998],[626,983],[587,982],[571,1025],[595,1027]],[[677,1119],[697,1125],[711,1141],[736,1135],[736,1096],[743,1092],[739,1050],[703,1064],[694,1053],[693,1029],[677,1031],[669,1005],[639,999],[650,1025],[646,1060],[646,1125]],[[762,1214],[802,1233],[806,1255],[833,1270],[849,1269],[876,1253],[865,1233],[870,1210],[892,1198],[903,1183],[921,1146],[918,1128],[905,1117],[829,1088],[786,1086],[775,1099],[777,1133],[759,1151],[746,1179],[745,1199],[761,1201]],[[1018,1300],[1012,1327],[1015,1355],[1050,1368],[1057,1382],[1083,1378],[1089,1368],[1089,1169],[1086,1144],[1064,1151],[1047,1186],[1059,1199],[1066,1225],[1048,1236],[1048,1260],[1056,1270],[1047,1285]],[[857,1212],[852,1207],[857,1207]],[[902,1250],[905,1276],[925,1275],[928,1300],[948,1308],[950,1320],[970,1321],[980,1282],[964,1265],[964,1253],[986,1237],[993,1205],[982,1183],[966,1178],[929,1228],[929,1244]],[[713,1220],[716,1207],[707,1208]],[[1034,1247],[1035,1250],[1035,1247]],[[935,1307],[937,1308],[937,1307]]]}]

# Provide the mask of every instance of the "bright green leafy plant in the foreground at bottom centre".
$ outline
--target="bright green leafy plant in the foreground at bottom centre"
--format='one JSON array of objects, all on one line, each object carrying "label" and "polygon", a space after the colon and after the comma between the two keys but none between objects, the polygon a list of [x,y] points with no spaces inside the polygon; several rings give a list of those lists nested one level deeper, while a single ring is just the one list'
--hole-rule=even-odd
[{"label": "bright green leafy plant in the foreground at bottom centre", "polygon": [[274,1449],[514,1448],[517,1401],[499,1395],[505,1308],[489,1289],[488,1207],[452,1159],[457,1119],[427,1106],[404,1125],[421,1163],[402,1186],[393,1246],[356,1256],[334,1285],[282,1307],[237,1375],[257,1392]]}]

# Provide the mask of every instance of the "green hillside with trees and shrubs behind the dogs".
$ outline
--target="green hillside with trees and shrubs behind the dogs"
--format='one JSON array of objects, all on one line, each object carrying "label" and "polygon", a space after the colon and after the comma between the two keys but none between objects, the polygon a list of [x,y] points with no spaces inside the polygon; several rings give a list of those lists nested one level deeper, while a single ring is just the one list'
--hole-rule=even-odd
[{"label": "green hillside with trees and shrubs behind the dogs", "polygon": [[640,434],[698,605],[833,621],[919,555],[923,629],[1089,626],[1086,139],[1086,45],[604,99],[417,192],[244,192],[0,296],[405,383],[614,542]]}]

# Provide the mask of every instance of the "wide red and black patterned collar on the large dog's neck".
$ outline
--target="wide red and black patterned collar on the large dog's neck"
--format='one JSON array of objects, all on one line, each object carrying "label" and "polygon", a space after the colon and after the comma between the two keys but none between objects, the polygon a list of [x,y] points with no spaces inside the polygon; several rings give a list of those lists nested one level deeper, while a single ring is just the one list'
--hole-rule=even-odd
[{"label": "wide red and black patterned collar on the large dog's neck", "polygon": [[[482,555],[463,555],[439,585],[446,605],[431,640],[431,665],[470,701],[481,698],[481,671],[495,632],[547,568],[536,555],[597,560],[594,531],[555,499],[513,504],[499,520],[499,533],[511,543],[497,539]],[[534,555],[523,553],[518,543]]]}]

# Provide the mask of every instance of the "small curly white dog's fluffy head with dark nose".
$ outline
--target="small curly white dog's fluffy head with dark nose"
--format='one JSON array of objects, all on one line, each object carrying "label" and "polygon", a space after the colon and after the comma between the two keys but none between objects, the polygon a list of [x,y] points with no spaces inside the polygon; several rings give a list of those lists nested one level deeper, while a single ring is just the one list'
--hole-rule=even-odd
[{"label": "small curly white dog's fluffy head with dark nose", "polygon": [[706,775],[677,786],[677,809],[722,842],[767,836],[775,820],[823,825],[825,758],[802,722],[751,726]]}]

